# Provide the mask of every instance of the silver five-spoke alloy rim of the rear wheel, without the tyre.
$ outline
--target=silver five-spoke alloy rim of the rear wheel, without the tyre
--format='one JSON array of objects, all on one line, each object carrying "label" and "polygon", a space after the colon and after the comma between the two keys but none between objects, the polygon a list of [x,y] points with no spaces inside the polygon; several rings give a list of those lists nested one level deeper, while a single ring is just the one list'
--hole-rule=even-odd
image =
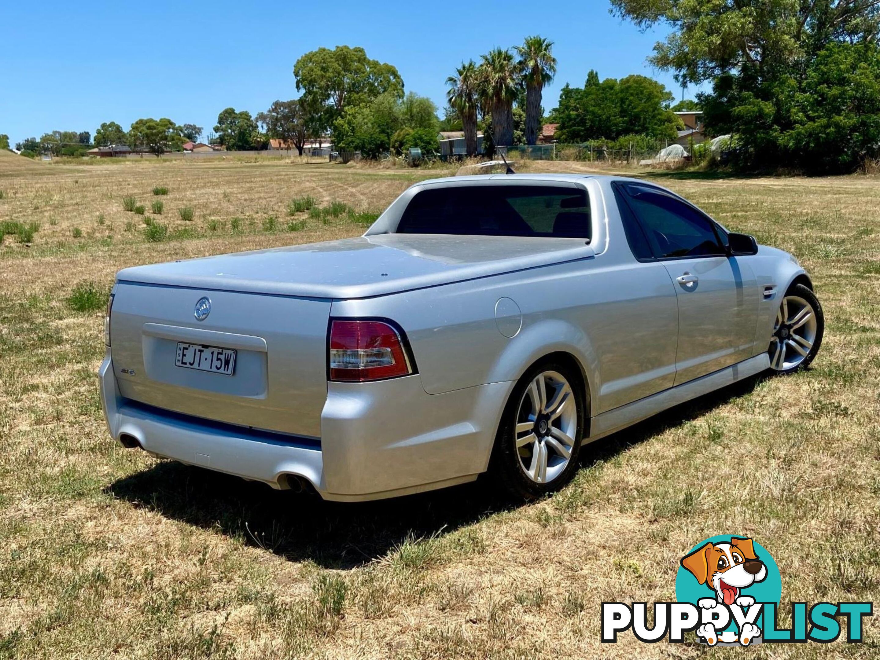
[{"label": "silver five-spoke alloy rim of the rear wheel, without the tyre", "polygon": [[519,464],[535,483],[549,483],[568,466],[577,436],[577,405],[571,385],[557,371],[542,371],[517,407]]}]

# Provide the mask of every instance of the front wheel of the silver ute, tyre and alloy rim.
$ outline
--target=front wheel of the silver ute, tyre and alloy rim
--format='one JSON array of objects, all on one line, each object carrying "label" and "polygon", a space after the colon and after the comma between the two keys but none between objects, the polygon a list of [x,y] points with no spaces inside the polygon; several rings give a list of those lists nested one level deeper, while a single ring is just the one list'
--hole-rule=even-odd
[{"label": "front wheel of the silver ute, tyre and alloy rim", "polygon": [[767,355],[770,368],[788,375],[806,369],[822,346],[825,313],[816,294],[795,284],[782,297]]}]

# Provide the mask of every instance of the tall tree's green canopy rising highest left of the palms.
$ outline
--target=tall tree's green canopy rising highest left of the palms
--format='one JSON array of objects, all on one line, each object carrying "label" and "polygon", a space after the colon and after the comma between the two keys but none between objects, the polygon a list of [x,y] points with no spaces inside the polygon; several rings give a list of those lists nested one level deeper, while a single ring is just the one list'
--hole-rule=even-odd
[{"label": "tall tree's green canopy rising highest left of the palms", "polygon": [[403,78],[391,64],[370,60],[363,48],[318,48],[300,57],[293,66],[297,92],[304,103],[326,106],[326,127],[346,107],[363,106],[385,93],[403,96]]}]

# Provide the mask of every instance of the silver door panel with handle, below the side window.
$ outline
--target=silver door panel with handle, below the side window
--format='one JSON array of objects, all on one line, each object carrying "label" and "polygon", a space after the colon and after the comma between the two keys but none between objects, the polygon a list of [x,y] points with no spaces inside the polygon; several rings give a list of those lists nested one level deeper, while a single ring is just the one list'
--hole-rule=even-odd
[{"label": "silver door panel with handle, below the side window", "polygon": [[675,385],[751,357],[758,321],[752,268],[736,257],[671,260],[664,266],[678,294]]}]

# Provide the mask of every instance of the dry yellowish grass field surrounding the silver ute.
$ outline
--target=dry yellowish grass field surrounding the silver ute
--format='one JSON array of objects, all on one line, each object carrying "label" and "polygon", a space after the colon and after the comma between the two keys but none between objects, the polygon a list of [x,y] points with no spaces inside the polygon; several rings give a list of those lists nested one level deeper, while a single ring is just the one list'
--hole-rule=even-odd
[{"label": "dry yellowish grass field surrounding the silver ute", "polygon": [[[875,177],[653,174],[796,254],[825,306],[822,352],[590,445],[545,501],[478,482],[330,504],[111,442],[96,370],[117,270],[353,236],[442,173],[0,154],[0,658],[880,655],[876,617],[864,645],[598,642],[602,601],[674,599],[679,558],[718,533],[774,554],[783,605],[880,602]],[[322,210],[289,209],[306,197]]]}]

